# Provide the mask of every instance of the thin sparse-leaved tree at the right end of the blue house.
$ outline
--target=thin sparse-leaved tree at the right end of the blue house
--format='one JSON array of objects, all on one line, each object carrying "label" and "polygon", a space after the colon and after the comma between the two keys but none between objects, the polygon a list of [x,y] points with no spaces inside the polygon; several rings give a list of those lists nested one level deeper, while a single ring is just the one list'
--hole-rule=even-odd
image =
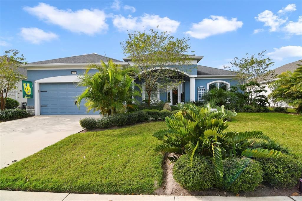
[{"label": "thin sparse-leaved tree at the right end of the blue house", "polygon": [[231,66],[224,66],[224,68],[230,69],[237,73],[237,80],[239,82],[239,88],[247,96],[247,104],[252,104],[252,100],[256,98],[261,92],[266,92],[265,89],[259,89],[260,81],[267,81],[275,77],[275,71],[270,70],[270,67],[274,64],[272,59],[264,58],[263,51],[258,55],[253,54],[249,56],[246,54],[243,58],[239,59],[235,57]]}]

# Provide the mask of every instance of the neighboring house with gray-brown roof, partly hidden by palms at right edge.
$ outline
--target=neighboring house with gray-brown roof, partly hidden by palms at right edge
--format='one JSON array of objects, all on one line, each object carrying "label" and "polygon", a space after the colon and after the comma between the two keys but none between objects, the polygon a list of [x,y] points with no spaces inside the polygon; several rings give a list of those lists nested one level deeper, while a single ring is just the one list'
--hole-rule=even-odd
[{"label": "neighboring house with gray-brown roof, partly hidden by palms at right edge", "polygon": [[[298,60],[295,62],[291,62],[291,63],[285,64],[285,65],[282,65],[282,66],[274,69],[275,75],[280,75],[282,72],[287,72],[287,71],[294,72],[294,70],[298,67],[297,64],[302,65],[302,62],[300,60]],[[265,89],[267,91],[267,92],[262,92],[261,94],[268,96],[268,94],[270,94],[271,91],[273,90],[269,87],[269,85],[277,79],[278,78],[275,78],[275,77],[269,77],[269,78],[267,78],[266,81],[259,82],[260,88]],[[271,103],[271,106],[275,106],[273,102],[270,102],[270,103]],[[286,103],[279,103],[278,105],[281,107],[289,107],[288,104],[286,104]]]}]

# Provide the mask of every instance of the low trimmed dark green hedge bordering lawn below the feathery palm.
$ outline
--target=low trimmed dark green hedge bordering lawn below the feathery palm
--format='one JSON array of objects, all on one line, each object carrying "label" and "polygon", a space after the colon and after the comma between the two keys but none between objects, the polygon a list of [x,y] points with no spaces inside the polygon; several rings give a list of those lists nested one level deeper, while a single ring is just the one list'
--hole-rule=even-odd
[{"label": "low trimmed dark green hedge bordering lawn below the feathery palm", "polygon": [[166,116],[171,116],[172,114],[173,113],[169,110],[140,110],[127,114],[114,114],[111,116],[103,116],[98,119],[87,117],[80,120],[80,125],[82,126],[82,128],[88,130],[92,130],[95,128],[104,129],[114,126],[133,125],[136,123],[146,122],[150,120],[165,120]]}]

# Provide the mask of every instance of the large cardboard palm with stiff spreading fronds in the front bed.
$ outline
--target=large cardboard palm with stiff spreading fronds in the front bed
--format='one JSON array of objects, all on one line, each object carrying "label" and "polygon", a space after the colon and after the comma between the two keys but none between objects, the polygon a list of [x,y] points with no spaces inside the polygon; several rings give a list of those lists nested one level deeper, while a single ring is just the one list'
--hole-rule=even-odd
[{"label": "large cardboard palm with stiff spreading fronds in the front bed", "polygon": [[195,155],[203,155],[213,161],[215,178],[220,183],[223,178],[223,159],[238,155],[248,157],[278,157],[281,152],[263,148],[252,148],[255,140],[271,141],[261,131],[225,132],[227,118],[236,112],[225,110],[224,106],[212,109],[210,104],[198,108],[193,104],[178,104],[180,111],[166,117],[167,129],[155,132],[153,136],[163,143],[156,147],[157,152],[174,153],[170,161],[178,155],[188,154],[190,160]]}]

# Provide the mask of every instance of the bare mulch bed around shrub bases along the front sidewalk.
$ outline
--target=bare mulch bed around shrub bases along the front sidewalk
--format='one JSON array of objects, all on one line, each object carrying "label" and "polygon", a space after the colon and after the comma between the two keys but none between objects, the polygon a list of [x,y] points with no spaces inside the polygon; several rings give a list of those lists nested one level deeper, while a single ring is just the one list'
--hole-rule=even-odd
[{"label": "bare mulch bed around shrub bases along the front sidewalk", "polygon": [[266,185],[259,186],[253,192],[242,192],[239,194],[234,194],[232,192],[224,191],[222,189],[211,189],[204,191],[192,191],[189,192],[181,187],[173,178],[172,169],[174,163],[170,163],[166,155],[163,160],[163,182],[160,188],[155,190],[156,195],[175,195],[175,196],[302,196],[299,193],[299,186],[292,189],[276,189]]}]

